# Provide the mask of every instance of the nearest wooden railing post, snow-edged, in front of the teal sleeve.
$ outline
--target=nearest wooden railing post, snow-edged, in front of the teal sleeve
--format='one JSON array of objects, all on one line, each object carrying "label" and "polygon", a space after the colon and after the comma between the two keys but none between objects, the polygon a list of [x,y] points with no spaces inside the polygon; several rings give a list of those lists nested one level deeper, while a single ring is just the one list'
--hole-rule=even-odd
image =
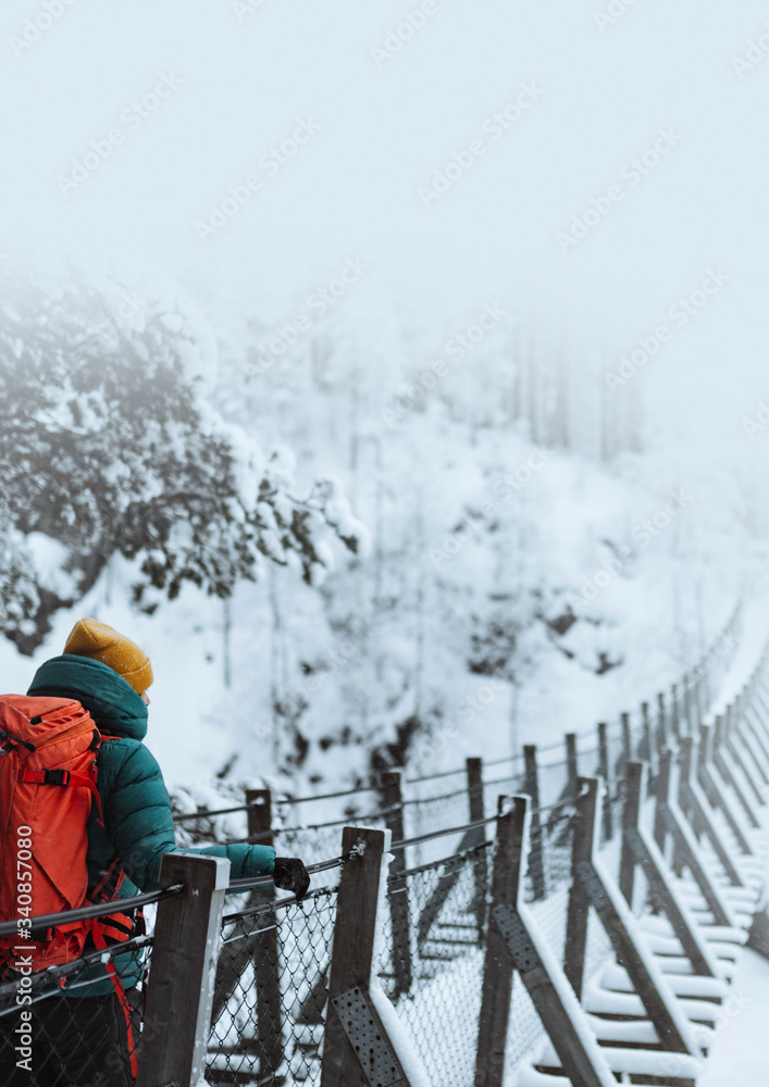
[{"label": "nearest wooden railing post, snow-edged, in front of the teal sleeve", "polygon": [[158,905],[137,1087],[189,1087],[202,1080],[230,861],[166,853],[161,889],[184,892]]}]

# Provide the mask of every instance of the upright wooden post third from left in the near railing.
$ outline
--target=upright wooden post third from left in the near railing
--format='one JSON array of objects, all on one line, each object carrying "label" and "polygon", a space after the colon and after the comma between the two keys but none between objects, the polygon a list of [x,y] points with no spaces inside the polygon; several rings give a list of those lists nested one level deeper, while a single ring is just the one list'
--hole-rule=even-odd
[{"label": "upright wooden post third from left in the near railing", "polygon": [[[505,814],[504,804],[505,798],[500,797],[492,874],[492,911],[500,905],[514,907],[518,903],[522,879],[526,800],[513,797],[512,809]],[[501,1087],[511,1004],[512,964],[499,927],[489,925],[483,967],[475,1087]]]}]

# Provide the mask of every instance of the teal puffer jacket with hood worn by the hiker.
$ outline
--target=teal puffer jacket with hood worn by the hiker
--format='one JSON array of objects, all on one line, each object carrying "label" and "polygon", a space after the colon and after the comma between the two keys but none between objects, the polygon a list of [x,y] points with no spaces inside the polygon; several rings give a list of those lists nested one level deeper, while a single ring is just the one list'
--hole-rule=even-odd
[{"label": "teal puffer jacket with hood worn by the hiker", "polygon": [[[116,854],[126,873],[117,897],[157,890],[163,853],[177,847],[163,775],[141,742],[147,735],[147,705],[112,669],[72,653],[42,664],[28,694],[77,699],[100,732],[116,737],[103,740],[97,761],[103,826],[94,807],[86,858],[89,884],[99,882]],[[271,875],[275,862],[275,851],[268,846],[206,846],[184,852],[228,858],[232,879]],[[141,975],[138,958],[121,955],[114,962],[125,987],[136,985]],[[86,977],[92,979],[88,985],[83,984]],[[95,997],[112,991],[112,982],[101,965],[77,982],[76,986],[67,983],[67,996]]]}]

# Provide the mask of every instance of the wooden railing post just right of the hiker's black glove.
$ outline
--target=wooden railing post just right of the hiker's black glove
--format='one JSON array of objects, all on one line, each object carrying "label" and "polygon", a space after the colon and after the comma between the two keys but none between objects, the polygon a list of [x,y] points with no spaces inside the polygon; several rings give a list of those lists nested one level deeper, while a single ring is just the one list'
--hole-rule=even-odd
[{"label": "wooden railing post just right of the hiker's black glove", "polygon": [[342,852],[350,859],[337,896],[321,1087],[412,1087],[398,1041],[388,1035],[372,997],[379,987],[372,972],[382,862],[389,846],[389,830],[346,826],[343,832]]}]

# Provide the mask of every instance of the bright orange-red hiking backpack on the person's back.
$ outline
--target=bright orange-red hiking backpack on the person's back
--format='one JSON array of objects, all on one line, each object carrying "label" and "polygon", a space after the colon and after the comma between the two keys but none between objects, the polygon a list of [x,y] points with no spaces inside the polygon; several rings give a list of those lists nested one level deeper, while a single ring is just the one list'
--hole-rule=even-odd
[{"label": "bright orange-red hiking backpack on the person's back", "polygon": [[90,935],[97,947],[126,940],[122,914],[35,927],[34,917],[107,901],[123,882],[117,862],[88,888],[87,823],[101,734],[79,702],[0,696],[0,921],[17,935],[0,937],[0,974],[24,946],[33,971],[72,962]]}]

